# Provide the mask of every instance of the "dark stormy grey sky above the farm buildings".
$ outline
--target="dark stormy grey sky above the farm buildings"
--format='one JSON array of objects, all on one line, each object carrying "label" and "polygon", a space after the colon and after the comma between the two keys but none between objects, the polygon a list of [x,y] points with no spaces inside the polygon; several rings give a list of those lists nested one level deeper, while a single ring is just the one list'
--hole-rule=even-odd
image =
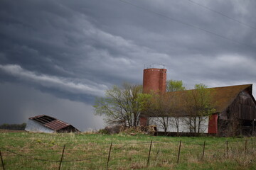
[{"label": "dark stormy grey sky above the farm buildings", "polygon": [[[164,64],[188,89],[256,85],[256,1],[1,0],[0,124],[104,127],[95,97]],[[253,91],[255,95],[255,91]]]}]

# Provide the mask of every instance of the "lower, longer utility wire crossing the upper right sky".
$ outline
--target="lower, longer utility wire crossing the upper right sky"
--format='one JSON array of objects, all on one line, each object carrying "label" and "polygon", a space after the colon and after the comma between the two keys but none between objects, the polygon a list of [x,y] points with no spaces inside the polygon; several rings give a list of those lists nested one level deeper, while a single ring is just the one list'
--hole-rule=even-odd
[{"label": "lower, longer utility wire crossing the upper right sky", "polygon": [[[190,23],[185,23],[185,22],[183,22],[183,21],[179,21],[178,19],[171,18],[171,17],[169,17],[169,16],[165,16],[164,14],[161,14],[161,13],[158,13],[158,12],[155,12],[155,11],[151,11],[151,10],[148,9],[148,8],[144,8],[144,7],[142,7],[142,6],[137,6],[136,4],[133,4],[133,3],[131,3],[131,2],[124,1],[124,0],[118,0],[118,1],[121,1],[121,2],[123,2],[124,4],[129,4],[129,5],[131,5],[131,6],[135,6],[136,8],[140,8],[140,9],[142,9],[142,10],[144,10],[144,11],[149,12],[149,13],[154,13],[156,16],[161,16],[161,17],[167,18],[167,19],[169,19],[169,20],[171,20],[171,21],[175,21],[176,23],[182,23],[182,24],[185,25],[185,26],[188,26],[188,27],[191,27],[191,28],[195,28],[195,29],[201,30],[201,31],[203,31],[203,32],[205,32],[205,33],[209,33],[209,34],[215,35],[215,36],[217,36],[217,37],[219,37],[219,38],[223,38],[223,39],[225,39],[225,40],[230,40],[230,41],[232,41],[232,42],[235,42],[235,43],[240,44],[240,45],[245,45],[245,46],[247,46],[247,47],[252,47],[252,45],[245,44],[244,42],[240,42],[240,41],[237,41],[237,40],[233,40],[233,39],[231,39],[231,38],[225,37],[224,35],[220,35],[220,34],[218,34],[218,33],[213,33],[213,32],[211,32],[210,30],[206,30],[206,29],[203,29],[203,28],[200,28],[200,27],[197,27],[197,26],[193,26],[193,25],[190,24]],[[252,47],[252,48],[255,48],[255,47]]]}]

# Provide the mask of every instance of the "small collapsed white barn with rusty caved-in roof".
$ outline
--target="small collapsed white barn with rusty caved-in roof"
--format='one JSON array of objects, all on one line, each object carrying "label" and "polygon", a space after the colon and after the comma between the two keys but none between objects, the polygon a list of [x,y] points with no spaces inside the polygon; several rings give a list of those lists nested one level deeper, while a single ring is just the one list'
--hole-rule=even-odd
[{"label": "small collapsed white barn with rusty caved-in roof", "polygon": [[25,128],[28,132],[80,132],[77,128],[68,123],[58,120],[49,115],[37,115],[35,117],[28,118],[28,122]]}]

